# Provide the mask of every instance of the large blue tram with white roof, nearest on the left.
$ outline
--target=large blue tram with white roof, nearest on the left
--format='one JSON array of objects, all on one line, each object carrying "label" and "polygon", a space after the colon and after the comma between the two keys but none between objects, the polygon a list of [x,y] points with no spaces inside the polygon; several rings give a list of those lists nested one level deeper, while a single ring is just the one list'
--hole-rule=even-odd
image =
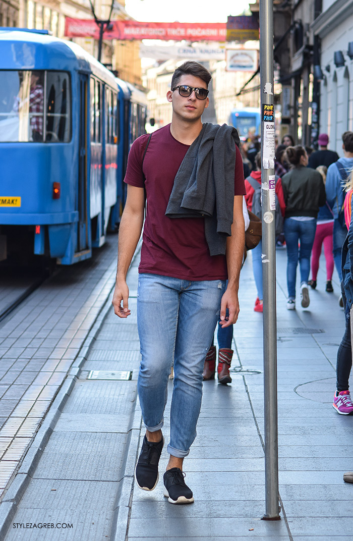
[{"label": "large blue tram with white roof, nearest on the left", "polygon": [[125,96],[81,47],[38,30],[0,29],[0,80],[0,259],[87,259],[123,202]]}]

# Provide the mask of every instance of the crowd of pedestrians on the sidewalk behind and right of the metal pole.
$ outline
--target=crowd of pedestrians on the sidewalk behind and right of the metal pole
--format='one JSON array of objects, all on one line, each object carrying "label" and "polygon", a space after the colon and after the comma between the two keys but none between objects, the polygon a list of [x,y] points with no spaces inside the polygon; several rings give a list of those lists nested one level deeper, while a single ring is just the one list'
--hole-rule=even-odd
[{"label": "crowd of pedestrians on the sidewalk behind and right of the metal pole", "polygon": [[[256,143],[252,143],[255,147]],[[342,134],[342,157],[328,149],[329,137],[320,134],[318,150],[296,145],[290,135],[285,135],[276,147],[275,173],[278,199],[284,204],[284,240],[287,247],[287,308],[296,308],[296,269],[299,262],[301,276],[301,305],[310,304],[309,287],[316,289],[319,258],[322,247],[326,263],[325,290],[332,293],[332,274],[336,266],[341,281],[342,294],[339,305],[345,311],[345,331],[337,352],[337,384],[332,406],[341,415],[353,414],[349,392],[349,375],[352,367],[351,319],[353,302],[353,221],[351,208],[353,196],[353,132]],[[257,146],[258,150],[258,146]],[[247,146],[243,147],[247,160]],[[256,176],[258,167],[250,175]],[[260,168],[261,169],[261,168]],[[261,182],[261,180],[259,180]],[[278,187],[278,190],[277,190]],[[248,208],[254,193],[245,180]],[[252,191],[251,191],[252,190]],[[282,205],[281,205],[282,209]],[[258,246],[261,246],[259,244]],[[261,249],[259,250],[261,256]],[[258,295],[258,254],[252,251],[254,279]],[[311,278],[309,280],[311,268]],[[255,302],[256,312],[258,299]],[[344,480],[353,483],[353,472]]]}]

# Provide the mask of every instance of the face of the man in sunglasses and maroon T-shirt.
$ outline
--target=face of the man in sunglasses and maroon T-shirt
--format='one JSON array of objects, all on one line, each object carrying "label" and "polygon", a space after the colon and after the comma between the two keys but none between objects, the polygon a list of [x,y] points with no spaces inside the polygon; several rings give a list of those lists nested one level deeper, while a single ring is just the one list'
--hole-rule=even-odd
[{"label": "face of the man in sunglasses and maroon T-shirt", "polygon": [[[184,84],[190,87],[204,88],[207,90],[207,84],[202,81],[202,79],[194,77],[194,75],[183,75],[176,83],[176,86]],[[209,105],[209,98],[207,97],[205,100],[199,100],[195,95],[195,91],[192,91],[190,96],[183,97],[179,95],[179,89],[174,91],[168,90],[166,98],[172,103],[173,115],[190,122],[198,120],[205,108]]]}]

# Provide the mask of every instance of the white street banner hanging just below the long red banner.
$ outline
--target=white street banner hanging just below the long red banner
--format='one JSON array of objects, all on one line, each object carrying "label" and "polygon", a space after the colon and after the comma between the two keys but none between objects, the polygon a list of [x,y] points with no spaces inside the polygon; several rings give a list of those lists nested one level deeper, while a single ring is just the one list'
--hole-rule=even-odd
[{"label": "white street banner hanging just below the long red banner", "polygon": [[224,60],[225,49],[219,47],[218,43],[214,45],[144,45],[139,46],[140,58],[155,58],[155,60]]}]

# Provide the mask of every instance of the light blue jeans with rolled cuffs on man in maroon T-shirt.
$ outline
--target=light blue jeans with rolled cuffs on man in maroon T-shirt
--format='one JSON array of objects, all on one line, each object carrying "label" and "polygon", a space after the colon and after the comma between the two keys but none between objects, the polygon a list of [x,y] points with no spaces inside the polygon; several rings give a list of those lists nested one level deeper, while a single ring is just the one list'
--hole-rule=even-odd
[{"label": "light blue jeans with rolled cuffs on man in maroon T-shirt", "polygon": [[202,371],[219,319],[225,280],[189,281],[139,274],[137,327],[141,366],[137,390],[145,427],[163,426],[174,359],[170,443],[174,457],[189,454],[201,408]]}]

